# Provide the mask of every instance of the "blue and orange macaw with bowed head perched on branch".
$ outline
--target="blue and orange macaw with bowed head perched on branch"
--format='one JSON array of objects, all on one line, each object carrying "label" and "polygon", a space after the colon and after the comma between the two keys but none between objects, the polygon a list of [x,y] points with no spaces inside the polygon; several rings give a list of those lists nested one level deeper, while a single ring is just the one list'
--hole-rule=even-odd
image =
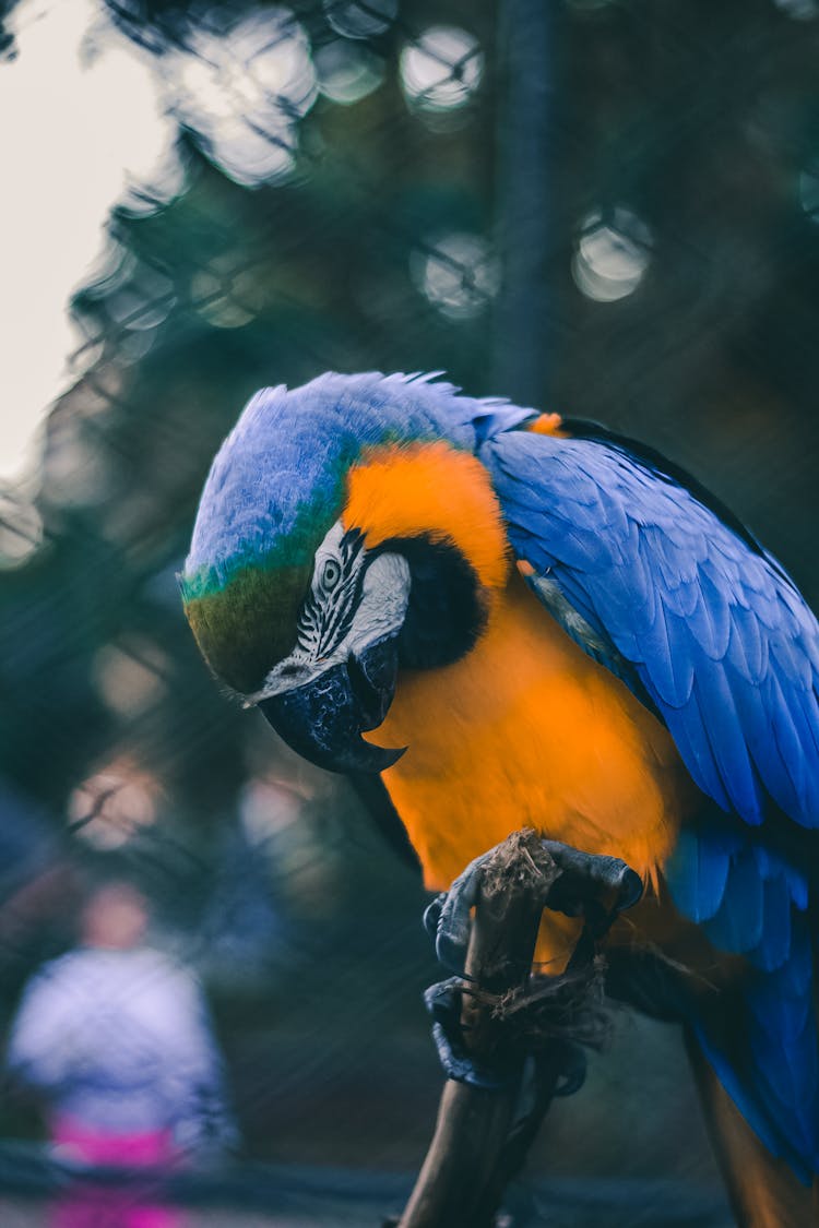
[{"label": "blue and orange macaw with bowed head perched on branch", "polygon": [[179,582],[222,688],[452,893],[440,953],[512,831],[621,868],[610,992],[684,1024],[739,1222],[810,1222],[819,626],[742,521],[597,422],[329,372],[248,402]]}]

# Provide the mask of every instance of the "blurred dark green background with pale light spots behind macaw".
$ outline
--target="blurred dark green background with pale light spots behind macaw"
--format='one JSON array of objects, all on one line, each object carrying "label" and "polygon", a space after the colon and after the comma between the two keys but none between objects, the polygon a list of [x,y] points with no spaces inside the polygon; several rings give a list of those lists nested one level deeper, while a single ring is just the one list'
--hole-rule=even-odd
[{"label": "blurred dark green background with pale light spots behind macaw", "polygon": [[[125,866],[241,1132],[196,1222],[377,1224],[441,1084],[425,894],[203,667],[174,576],[209,463],[259,386],[441,370],[666,452],[815,607],[819,2],[0,15],[1,1018]],[[45,1223],[42,1116],[0,1135],[2,1223]],[[511,1201],[728,1223],[674,1029],[618,1020]]]}]

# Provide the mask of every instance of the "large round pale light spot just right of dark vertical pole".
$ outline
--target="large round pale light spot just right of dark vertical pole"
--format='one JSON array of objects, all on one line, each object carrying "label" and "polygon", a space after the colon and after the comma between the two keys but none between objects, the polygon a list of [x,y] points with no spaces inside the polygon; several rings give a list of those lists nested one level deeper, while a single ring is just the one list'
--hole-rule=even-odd
[{"label": "large round pale light spot just right of dark vertical pole", "polygon": [[651,231],[636,214],[618,208],[611,215],[589,214],[572,258],[578,290],[597,302],[615,302],[632,293],[651,260]]}]

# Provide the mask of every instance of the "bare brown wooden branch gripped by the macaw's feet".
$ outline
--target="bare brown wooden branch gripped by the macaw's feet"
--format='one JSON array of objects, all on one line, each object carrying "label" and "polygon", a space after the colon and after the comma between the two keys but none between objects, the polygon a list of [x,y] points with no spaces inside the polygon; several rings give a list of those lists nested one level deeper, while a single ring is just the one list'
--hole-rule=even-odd
[{"label": "bare brown wooden branch gripped by the macaw's feet", "polygon": [[[540,915],[557,877],[534,831],[517,831],[484,868],[467,958],[478,992],[464,992],[462,1025],[468,1047],[492,1057],[503,1045],[496,996],[523,992],[534,957]],[[399,1228],[489,1228],[494,1222],[496,1170],[512,1125],[523,1055],[512,1055],[508,1087],[489,1092],[448,1081],[435,1137]]]}]

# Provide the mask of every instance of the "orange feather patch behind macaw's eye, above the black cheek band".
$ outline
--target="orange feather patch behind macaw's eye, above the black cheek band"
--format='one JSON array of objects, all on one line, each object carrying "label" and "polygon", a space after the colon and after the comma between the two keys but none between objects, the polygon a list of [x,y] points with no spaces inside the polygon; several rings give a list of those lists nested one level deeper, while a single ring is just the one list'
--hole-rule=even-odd
[{"label": "orange feather patch behind macaw's eye, above the black cheek band", "polygon": [[447,443],[372,448],[350,470],[341,516],[372,549],[422,534],[452,542],[490,589],[506,583],[511,558],[500,505],[475,457]]}]

